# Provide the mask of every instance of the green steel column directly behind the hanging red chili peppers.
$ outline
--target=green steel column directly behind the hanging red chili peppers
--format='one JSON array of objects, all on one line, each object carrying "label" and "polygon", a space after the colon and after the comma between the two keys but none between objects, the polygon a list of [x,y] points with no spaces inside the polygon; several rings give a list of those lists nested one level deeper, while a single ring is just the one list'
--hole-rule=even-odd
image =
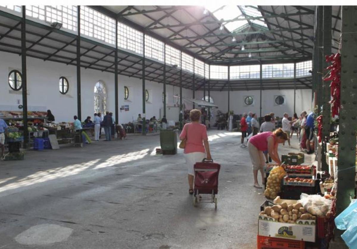
[{"label": "green steel column directly behind the hanging red chili peppers", "polygon": [[[322,67],[325,69],[330,65],[325,61],[325,55],[331,55],[331,40],[332,40],[332,6],[323,6],[323,61]],[[328,162],[326,162],[326,143],[325,138],[330,136],[331,125],[331,100],[330,82],[322,82],[322,157],[321,169],[328,171]]]}]

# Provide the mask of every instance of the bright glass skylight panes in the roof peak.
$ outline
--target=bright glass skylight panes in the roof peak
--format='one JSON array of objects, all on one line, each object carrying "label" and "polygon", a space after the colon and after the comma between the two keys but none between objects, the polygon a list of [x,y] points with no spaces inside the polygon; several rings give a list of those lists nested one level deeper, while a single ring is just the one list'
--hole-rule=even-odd
[{"label": "bright glass skylight panes in the roof peak", "polygon": [[[259,10],[255,9],[254,7],[257,6],[239,6],[241,7],[242,11],[238,8],[237,5],[224,5],[224,6],[219,6],[219,5],[205,5],[205,8],[218,19],[222,20],[223,19],[223,25],[228,29],[230,32],[235,31],[236,29],[248,24],[248,20],[238,20],[238,21],[232,21],[232,22],[225,22],[227,20],[235,19],[235,18],[241,18],[244,19],[245,15],[247,16],[262,16]],[[251,20],[252,23],[261,25],[263,27],[267,27],[263,19],[254,19]]]}]

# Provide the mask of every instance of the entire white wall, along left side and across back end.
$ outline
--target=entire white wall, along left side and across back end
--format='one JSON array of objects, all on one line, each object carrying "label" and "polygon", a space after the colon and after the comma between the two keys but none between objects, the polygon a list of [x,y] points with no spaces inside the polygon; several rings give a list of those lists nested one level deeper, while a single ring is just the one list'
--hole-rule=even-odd
[{"label": "entire white wall, along left side and across back end", "polygon": [[[21,57],[15,54],[0,52],[0,110],[19,110],[17,100],[22,103],[22,91],[11,91],[8,84],[8,75],[12,69],[21,72]],[[66,95],[59,92],[59,78],[65,76],[69,81],[69,91]],[[114,74],[98,70],[81,68],[81,104],[82,120],[94,113],[94,85],[101,80],[106,84],[107,110],[115,111]],[[124,100],[124,86],[129,88],[129,99]],[[50,109],[55,115],[56,121],[72,121],[73,115],[77,114],[77,87],[76,67],[62,63],[43,61],[27,57],[27,103],[30,111],[45,111]],[[149,91],[149,101],[146,102],[146,118],[160,117],[160,109],[163,108],[162,92],[163,84],[146,81],[146,89]],[[177,86],[166,86],[166,105],[175,106],[175,95],[180,94]],[[206,95],[208,92],[206,91]],[[282,116],[284,112],[293,114],[294,108],[293,90],[264,90],[262,92],[262,115],[274,112],[276,116]],[[129,105],[129,111],[119,111],[119,122],[126,123],[136,120],[137,115],[142,113],[142,81],[138,78],[129,78],[119,75],[119,107]],[[282,106],[275,105],[276,95],[285,96],[286,103]],[[192,90],[182,89],[182,96],[192,98]],[[244,98],[253,96],[252,106],[246,106]],[[196,91],[197,99],[203,98],[203,91]],[[228,111],[228,92],[211,91],[211,97],[222,112]],[[183,100],[186,109],[192,108],[192,103]],[[311,90],[296,91],[296,112],[309,111],[312,107]],[[236,114],[243,112],[260,113],[260,91],[231,91],[230,109]],[[211,120],[212,124],[215,117]]]}]

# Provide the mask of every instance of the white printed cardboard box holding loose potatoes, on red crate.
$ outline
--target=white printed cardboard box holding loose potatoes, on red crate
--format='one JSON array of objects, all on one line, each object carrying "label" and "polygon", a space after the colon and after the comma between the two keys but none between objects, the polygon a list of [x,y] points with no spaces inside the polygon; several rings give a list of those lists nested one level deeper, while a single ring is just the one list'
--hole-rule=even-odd
[{"label": "white printed cardboard box holding loose potatoes, on red crate", "polygon": [[315,242],[316,221],[297,220],[296,223],[277,222],[272,217],[258,217],[258,235]]}]

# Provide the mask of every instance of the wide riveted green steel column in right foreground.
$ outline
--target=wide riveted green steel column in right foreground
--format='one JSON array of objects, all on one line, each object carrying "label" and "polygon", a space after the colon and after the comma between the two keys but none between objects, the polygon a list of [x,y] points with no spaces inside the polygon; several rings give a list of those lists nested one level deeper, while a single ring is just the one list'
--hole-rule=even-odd
[{"label": "wide riveted green steel column in right foreground", "polygon": [[338,132],[336,212],[340,214],[355,195],[357,127],[357,9],[342,6],[341,109]]}]

